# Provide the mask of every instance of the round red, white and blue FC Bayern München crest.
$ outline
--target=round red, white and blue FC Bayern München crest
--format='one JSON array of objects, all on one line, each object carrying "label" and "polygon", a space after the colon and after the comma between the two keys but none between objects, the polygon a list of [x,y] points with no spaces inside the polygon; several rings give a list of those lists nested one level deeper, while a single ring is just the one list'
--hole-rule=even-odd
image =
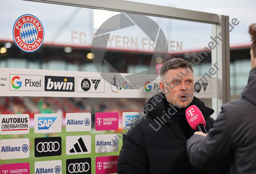
[{"label": "round red, white and blue FC Bayern M\u00fcnchen crest", "polygon": [[20,16],[13,26],[13,39],[16,45],[25,52],[34,52],[44,41],[44,27],[33,15]]}]

